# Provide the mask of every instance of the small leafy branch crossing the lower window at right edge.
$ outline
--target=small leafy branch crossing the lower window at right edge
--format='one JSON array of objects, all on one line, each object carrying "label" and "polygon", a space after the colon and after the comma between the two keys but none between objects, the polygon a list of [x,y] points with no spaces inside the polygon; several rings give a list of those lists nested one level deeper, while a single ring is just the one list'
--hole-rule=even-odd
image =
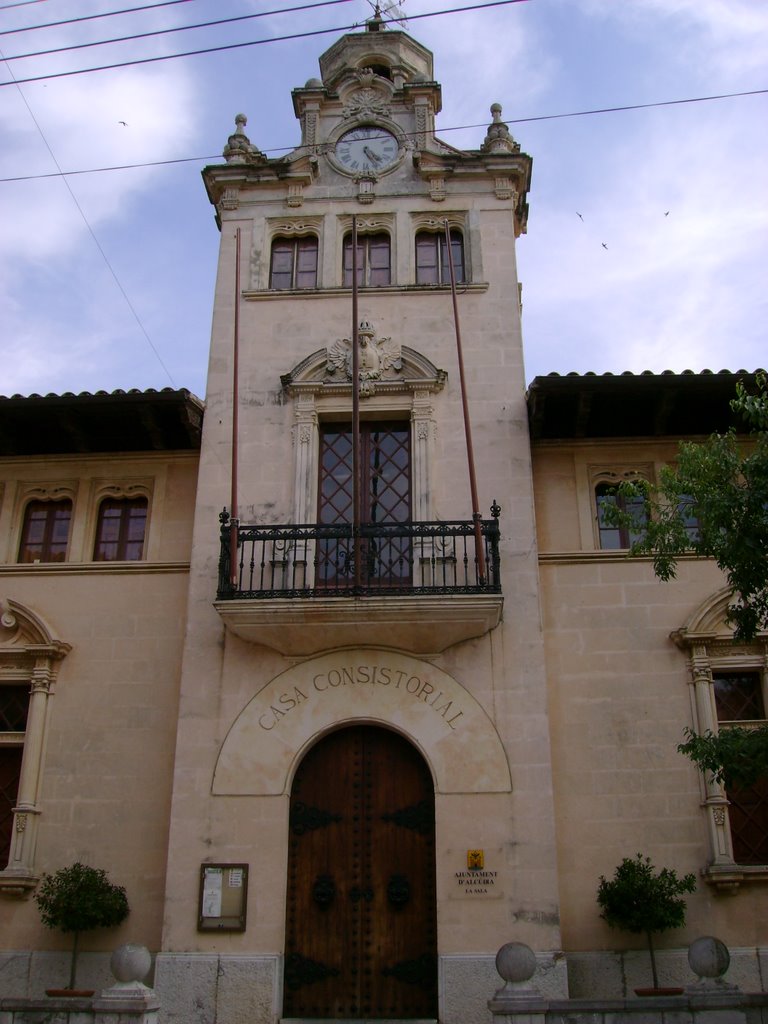
[{"label": "small leafy branch crossing the lower window at right edge", "polygon": [[686,729],[685,735],[686,742],[679,743],[678,751],[727,788],[754,785],[768,775],[768,725],[728,726],[717,735],[709,729],[701,735]]}]

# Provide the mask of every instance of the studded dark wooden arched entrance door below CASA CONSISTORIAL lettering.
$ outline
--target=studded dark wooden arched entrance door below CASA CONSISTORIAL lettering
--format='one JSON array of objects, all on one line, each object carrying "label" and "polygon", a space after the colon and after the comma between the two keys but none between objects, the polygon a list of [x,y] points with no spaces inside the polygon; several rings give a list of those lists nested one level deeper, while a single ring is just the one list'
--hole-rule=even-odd
[{"label": "studded dark wooden arched entrance door below CASA CONSISTORIAL lettering", "polygon": [[395,732],[354,726],[291,791],[285,1017],[436,1018],[434,787]]}]

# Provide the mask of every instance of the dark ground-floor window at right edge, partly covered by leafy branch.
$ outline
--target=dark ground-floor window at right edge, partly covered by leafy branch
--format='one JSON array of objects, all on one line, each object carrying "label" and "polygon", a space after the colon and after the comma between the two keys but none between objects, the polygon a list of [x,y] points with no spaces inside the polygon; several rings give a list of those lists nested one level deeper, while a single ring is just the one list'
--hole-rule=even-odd
[{"label": "dark ground-floor window at right edge, partly covered by leafy branch", "polygon": [[[760,671],[714,672],[718,723],[728,728],[765,720]],[[726,790],[733,859],[738,864],[768,864],[768,777],[754,785]]]}]

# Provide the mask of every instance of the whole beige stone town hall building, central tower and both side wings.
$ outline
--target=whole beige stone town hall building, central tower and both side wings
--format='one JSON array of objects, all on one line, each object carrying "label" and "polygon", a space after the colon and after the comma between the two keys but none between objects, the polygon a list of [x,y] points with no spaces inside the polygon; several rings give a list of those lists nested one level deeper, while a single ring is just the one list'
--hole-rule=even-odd
[{"label": "whole beige stone town hall building, central tower and both side wings", "polygon": [[136,410],[112,447],[61,399],[63,461],[53,420],[2,460],[12,994],[58,964],[29,893],[75,859],[126,885],[110,945],[152,948],[168,1022],[486,1020],[510,940],[552,995],[620,993],[643,968],[595,890],[639,849],[702,872],[665,970],[715,934],[761,988],[762,826],[675,748],[746,714],[734,681],[764,717],[765,644],[729,643],[713,565],[664,588],[600,516],[606,486],[722,425],[733,379],[526,399],[530,159],[501,108],[478,150],[444,143],[432,54],[378,18],[294,106],[293,153],[239,116],[204,171],[200,449],[190,396],[116,395],[104,422]]}]

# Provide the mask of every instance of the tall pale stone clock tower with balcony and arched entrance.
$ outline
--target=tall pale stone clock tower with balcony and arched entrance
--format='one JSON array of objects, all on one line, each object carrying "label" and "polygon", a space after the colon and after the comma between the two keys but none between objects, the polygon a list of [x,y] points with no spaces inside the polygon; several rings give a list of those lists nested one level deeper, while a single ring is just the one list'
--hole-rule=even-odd
[{"label": "tall pale stone clock tower with balcony and arched entrance", "polygon": [[[511,938],[566,992],[530,158],[498,103],[477,148],[440,139],[432,54],[380,17],[319,71],[295,150],[268,159],[240,115],[203,172],[221,247],[157,987],[179,1022],[226,999],[459,1024]],[[173,908],[198,874],[196,921]]]}]

